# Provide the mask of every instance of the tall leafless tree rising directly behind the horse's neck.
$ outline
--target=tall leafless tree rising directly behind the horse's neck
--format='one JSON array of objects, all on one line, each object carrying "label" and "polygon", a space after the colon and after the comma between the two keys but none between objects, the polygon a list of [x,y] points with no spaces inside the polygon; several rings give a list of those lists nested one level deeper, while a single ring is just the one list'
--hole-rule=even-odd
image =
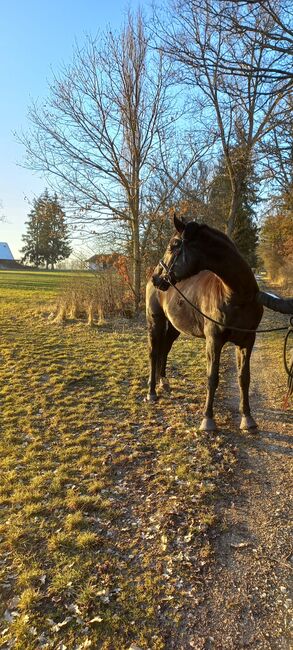
[{"label": "tall leafless tree rising directly behind the horse's neck", "polygon": [[[171,7],[160,31],[163,49],[193,89],[197,106],[201,102],[201,113],[216,124],[231,183],[226,224],[231,236],[251,159],[284,114],[289,85],[266,74],[280,58],[267,47],[274,23],[259,8],[251,15],[251,30],[240,38],[233,25],[241,7],[233,2],[175,0]],[[234,155],[240,140],[241,165]]]}]

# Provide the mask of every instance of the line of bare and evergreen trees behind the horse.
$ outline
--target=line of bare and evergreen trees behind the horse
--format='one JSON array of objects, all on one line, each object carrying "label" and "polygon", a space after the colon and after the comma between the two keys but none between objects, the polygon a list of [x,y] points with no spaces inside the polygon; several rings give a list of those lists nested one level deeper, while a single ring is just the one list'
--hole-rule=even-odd
[{"label": "line of bare and evergreen trees behind the horse", "polygon": [[287,0],[129,13],[77,47],[31,106],[27,164],[50,177],[72,226],[128,254],[136,308],[173,209],[224,230],[254,266],[265,207],[264,259],[283,218],[291,263],[291,18]]}]

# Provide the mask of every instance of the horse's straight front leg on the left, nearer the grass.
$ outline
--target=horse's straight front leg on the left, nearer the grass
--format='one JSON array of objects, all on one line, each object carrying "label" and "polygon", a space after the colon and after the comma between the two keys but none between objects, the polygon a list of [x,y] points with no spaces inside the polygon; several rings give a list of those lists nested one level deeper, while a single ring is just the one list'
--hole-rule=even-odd
[{"label": "horse's straight front leg on the left, nearer the grass", "polygon": [[201,431],[215,431],[216,423],[213,418],[213,404],[215,392],[219,384],[219,366],[223,343],[215,337],[206,339],[207,358],[207,396],[204,408],[204,417],[200,425]]}]

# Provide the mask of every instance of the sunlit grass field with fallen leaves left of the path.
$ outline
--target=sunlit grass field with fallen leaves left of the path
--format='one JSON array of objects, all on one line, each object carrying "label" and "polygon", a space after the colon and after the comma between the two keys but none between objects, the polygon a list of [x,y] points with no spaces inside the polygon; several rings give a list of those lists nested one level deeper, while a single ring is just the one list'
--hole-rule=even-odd
[{"label": "sunlit grass field with fallen leaves left of the path", "polygon": [[175,344],[149,405],[143,318],[52,323],[67,277],[0,273],[0,647],[168,648],[235,450],[196,430],[204,344]]}]

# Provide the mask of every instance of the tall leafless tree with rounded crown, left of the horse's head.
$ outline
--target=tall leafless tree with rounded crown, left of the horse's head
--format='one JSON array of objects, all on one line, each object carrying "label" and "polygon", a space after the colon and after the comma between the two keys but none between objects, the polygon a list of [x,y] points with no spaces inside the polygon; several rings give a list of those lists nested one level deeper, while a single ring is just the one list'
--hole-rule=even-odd
[{"label": "tall leafless tree with rounded crown, left of the horse's head", "polygon": [[[51,85],[48,101],[32,106],[32,130],[22,138],[28,164],[53,177],[54,188],[73,206],[73,223],[98,232],[113,223],[127,229],[136,308],[141,215],[162,139],[170,156],[175,154],[174,145],[170,149],[179,112],[171,81],[170,63],[150,47],[142,15],[129,14],[121,33],[109,30],[99,43],[88,38],[76,50],[72,66]],[[195,158],[191,153],[186,168]]]}]

